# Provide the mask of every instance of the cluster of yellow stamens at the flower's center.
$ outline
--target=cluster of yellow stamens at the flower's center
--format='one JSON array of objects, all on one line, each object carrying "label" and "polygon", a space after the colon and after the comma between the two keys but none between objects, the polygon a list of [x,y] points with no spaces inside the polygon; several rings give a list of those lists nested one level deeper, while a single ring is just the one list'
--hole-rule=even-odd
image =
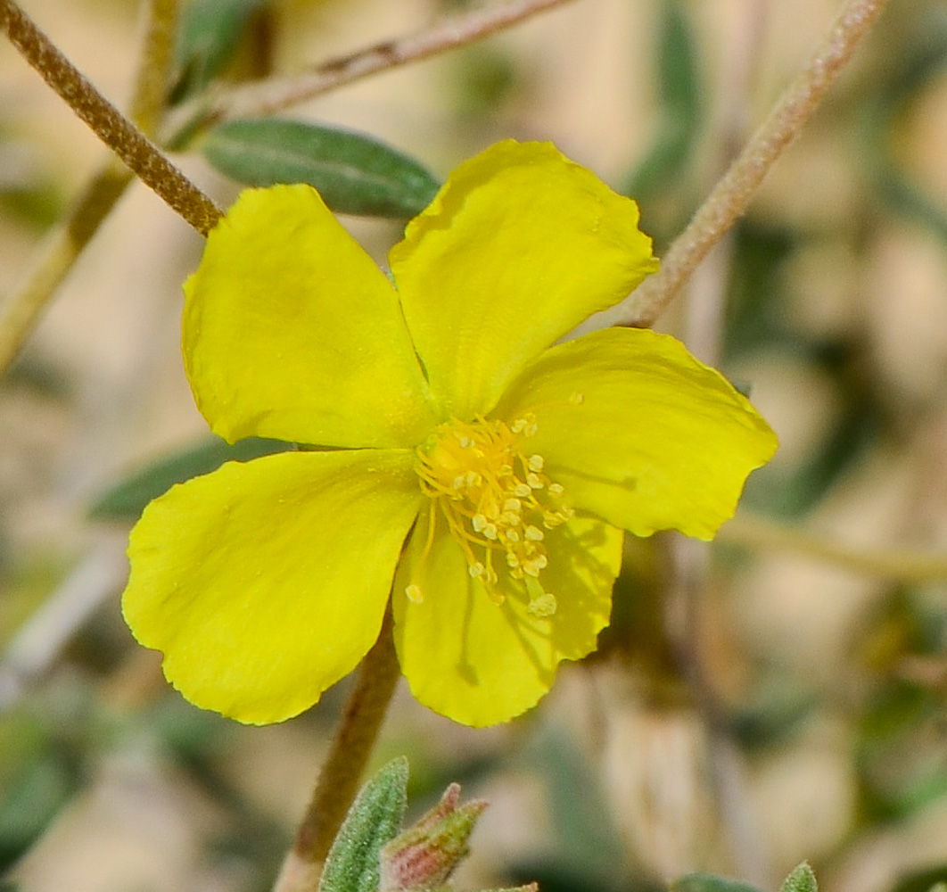
[{"label": "cluster of yellow stamens at the flower's center", "polygon": [[[494,603],[503,602],[497,589],[499,565],[526,589],[531,613],[551,615],[556,598],[541,582],[549,562],[545,530],[563,524],[573,512],[563,504],[563,487],[543,472],[543,456],[522,446],[535,433],[531,414],[511,425],[452,419],[418,448],[415,470],[421,490],[431,499],[421,562],[434,542],[439,511],[471,576],[483,583]],[[423,599],[414,582],[406,594],[414,601]]]}]

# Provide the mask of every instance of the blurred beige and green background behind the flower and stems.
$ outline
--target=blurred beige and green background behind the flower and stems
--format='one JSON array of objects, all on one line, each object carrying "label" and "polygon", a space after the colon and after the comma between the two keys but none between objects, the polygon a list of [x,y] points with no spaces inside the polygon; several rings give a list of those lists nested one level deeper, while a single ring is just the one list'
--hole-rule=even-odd
[{"label": "blurred beige and green background behind the flower and stems", "polygon": [[[551,139],[638,200],[660,255],[840,5],[574,0],[283,115],[438,179],[497,139]],[[118,104],[137,7],[27,4]],[[473,9],[250,7],[224,85]],[[657,326],[781,441],[719,540],[630,542],[599,652],[517,723],[473,731],[399,693],[376,763],[409,757],[418,809],[453,780],[492,803],[458,887],[710,871],[769,889],[804,858],[833,892],[947,881],[945,62],[942,0],[894,0]],[[105,156],[0,45],[0,294]],[[175,157],[222,205],[237,194],[196,149]],[[380,262],[402,226],[345,222]],[[170,690],[119,615],[134,511],[102,497],[207,437],[179,351],[202,241],[132,187],[0,381],[4,888],[269,888],[345,701],[343,683],[292,722],[226,722]]]}]

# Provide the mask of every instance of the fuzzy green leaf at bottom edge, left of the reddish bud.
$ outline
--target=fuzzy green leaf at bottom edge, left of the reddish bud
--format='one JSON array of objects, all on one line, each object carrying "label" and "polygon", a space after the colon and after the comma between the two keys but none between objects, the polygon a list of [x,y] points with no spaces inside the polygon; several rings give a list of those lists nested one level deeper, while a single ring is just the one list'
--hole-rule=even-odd
[{"label": "fuzzy green leaf at bottom edge, left of the reddish bud", "polygon": [[381,852],[402,828],[408,762],[396,758],[362,788],[332,843],[319,892],[376,892]]}]

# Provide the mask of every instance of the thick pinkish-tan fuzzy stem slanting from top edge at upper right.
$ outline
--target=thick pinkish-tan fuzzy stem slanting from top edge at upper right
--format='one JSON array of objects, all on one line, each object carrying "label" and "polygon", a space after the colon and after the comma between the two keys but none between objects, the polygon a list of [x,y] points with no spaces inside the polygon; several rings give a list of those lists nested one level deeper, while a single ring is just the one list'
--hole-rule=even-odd
[{"label": "thick pinkish-tan fuzzy stem slanting from top edge at upper right", "polygon": [[724,178],[671,244],[661,270],[625,299],[616,324],[650,328],[707,252],[750,203],[763,177],[795,139],[888,0],[849,0],[812,60],[753,134]]}]

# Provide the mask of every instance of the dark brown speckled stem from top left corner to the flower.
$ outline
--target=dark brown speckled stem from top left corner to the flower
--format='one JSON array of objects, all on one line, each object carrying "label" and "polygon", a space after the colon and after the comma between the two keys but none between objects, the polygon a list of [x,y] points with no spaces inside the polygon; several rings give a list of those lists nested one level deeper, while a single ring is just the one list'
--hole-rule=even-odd
[{"label": "dark brown speckled stem from top left corner to the flower", "polygon": [[13,0],[0,0],[0,27],[56,93],[125,164],[202,235],[223,216],[217,205],[104,98]]}]

